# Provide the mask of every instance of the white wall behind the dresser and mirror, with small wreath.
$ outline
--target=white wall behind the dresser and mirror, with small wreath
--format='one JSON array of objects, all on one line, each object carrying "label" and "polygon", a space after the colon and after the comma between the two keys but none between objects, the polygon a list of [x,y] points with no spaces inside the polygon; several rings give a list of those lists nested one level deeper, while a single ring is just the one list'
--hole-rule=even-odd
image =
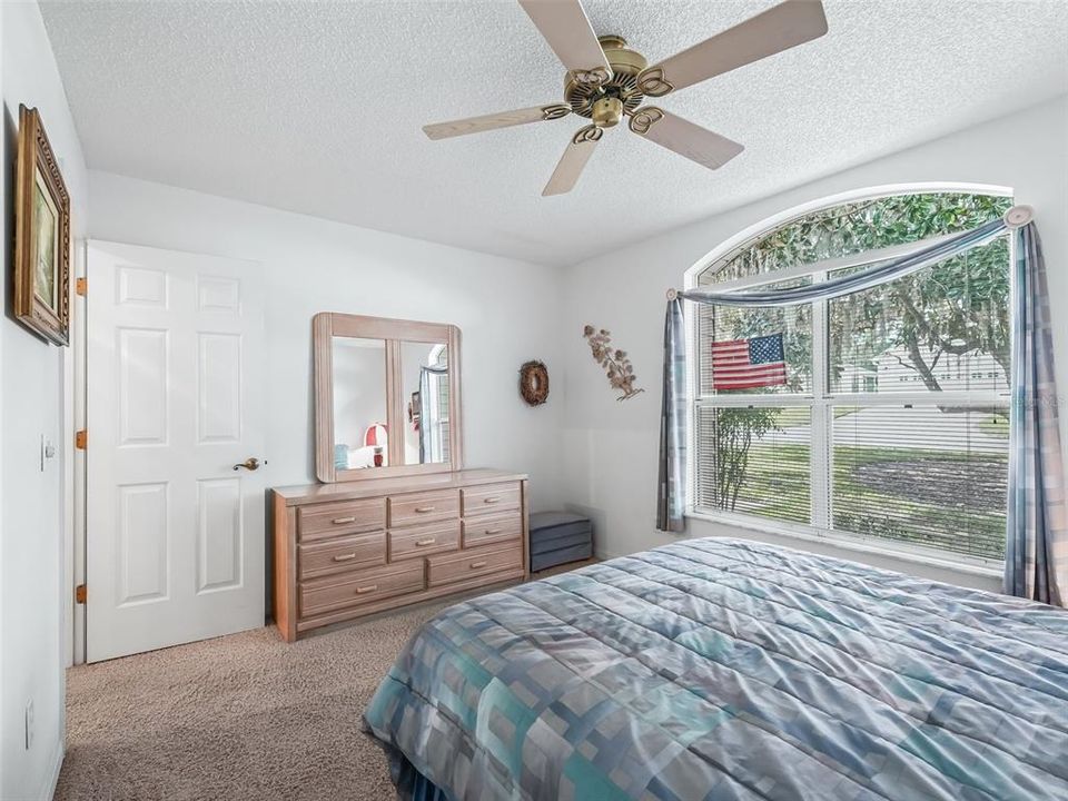
[{"label": "white wall behind the dresser and mirror, with small wreath", "polygon": [[535,508],[561,503],[563,393],[531,408],[517,389],[527,359],[563,372],[561,270],[106,172],[89,184],[93,238],[263,264],[269,484],[314,481],[312,316],[344,312],[459,326],[465,465],[526,472]]}]

